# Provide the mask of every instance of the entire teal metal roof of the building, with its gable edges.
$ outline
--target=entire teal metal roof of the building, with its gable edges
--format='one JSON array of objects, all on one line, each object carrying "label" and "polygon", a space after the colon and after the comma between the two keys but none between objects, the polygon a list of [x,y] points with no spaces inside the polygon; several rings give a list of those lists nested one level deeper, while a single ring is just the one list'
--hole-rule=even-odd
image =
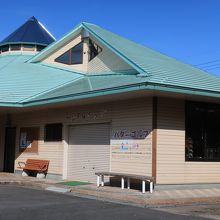
[{"label": "entire teal metal roof of the building, with its gable edges", "polygon": [[[134,71],[83,74],[41,62],[83,28]],[[140,89],[219,98],[220,77],[89,23],[81,23],[35,56],[0,56],[2,105],[38,105]]]}]

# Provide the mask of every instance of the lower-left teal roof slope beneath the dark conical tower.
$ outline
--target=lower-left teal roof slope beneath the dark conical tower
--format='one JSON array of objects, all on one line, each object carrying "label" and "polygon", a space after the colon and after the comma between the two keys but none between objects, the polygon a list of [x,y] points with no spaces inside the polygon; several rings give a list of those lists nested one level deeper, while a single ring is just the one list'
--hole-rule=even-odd
[{"label": "lower-left teal roof slope beneath the dark conical tower", "polygon": [[18,104],[82,77],[81,74],[25,62],[30,57],[0,56],[0,103]]}]

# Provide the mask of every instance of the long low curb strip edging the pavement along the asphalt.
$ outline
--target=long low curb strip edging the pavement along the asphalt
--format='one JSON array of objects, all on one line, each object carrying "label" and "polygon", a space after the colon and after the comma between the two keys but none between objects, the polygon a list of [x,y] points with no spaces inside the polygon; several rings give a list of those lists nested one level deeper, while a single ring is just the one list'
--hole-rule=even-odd
[{"label": "long low curb strip edging the pavement along the asphalt", "polygon": [[[48,187],[58,186],[53,183],[42,183],[42,182],[34,182],[28,180],[0,180],[0,185],[4,184],[15,184],[22,187],[34,188],[34,189],[43,189],[46,190]],[[59,187],[61,187],[59,185]],[[115,202],[126,205],[133,205],[145,208],[157,208],[162,206],[176,206],[176,205],[192,205],[192,204],[204,204],[204,203],[219,203],[220,196],[212,196],[212,197],[201,197],[201,198],[161,198],[161,199],[153,199],[150,197],[140,198],[138,196],[131,196],[126,194],[112,193],[112,192],[103,192],[99,190],[88,190],[77,187],[67,187],[64,186],[64,189],[69,188],[70,193],[73,196],[84,197],[90,199],[98,199],[102,201]]]}]

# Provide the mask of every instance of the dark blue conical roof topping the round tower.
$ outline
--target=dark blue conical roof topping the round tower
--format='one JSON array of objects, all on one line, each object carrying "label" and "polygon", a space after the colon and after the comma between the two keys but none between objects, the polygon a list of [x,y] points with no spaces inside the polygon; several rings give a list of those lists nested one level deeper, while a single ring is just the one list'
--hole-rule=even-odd
[{"label": "dark blue conical roof topping the round tower", "polygon": [[53,35],[35,17],[31,17],[2,40],[0,45],[26,43],[47,46],[53,41],[55,41]]}]

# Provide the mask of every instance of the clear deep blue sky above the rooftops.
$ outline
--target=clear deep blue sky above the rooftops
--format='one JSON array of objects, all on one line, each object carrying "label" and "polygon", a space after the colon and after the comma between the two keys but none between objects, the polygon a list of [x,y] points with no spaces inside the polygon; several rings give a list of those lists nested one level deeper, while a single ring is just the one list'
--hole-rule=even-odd
[{"label": "clear deep blue sky above the rooftops", "polygon": [[220,0],[1,1],[0,39],[33,15],[58,39],[87,21],[220,75]]}]

